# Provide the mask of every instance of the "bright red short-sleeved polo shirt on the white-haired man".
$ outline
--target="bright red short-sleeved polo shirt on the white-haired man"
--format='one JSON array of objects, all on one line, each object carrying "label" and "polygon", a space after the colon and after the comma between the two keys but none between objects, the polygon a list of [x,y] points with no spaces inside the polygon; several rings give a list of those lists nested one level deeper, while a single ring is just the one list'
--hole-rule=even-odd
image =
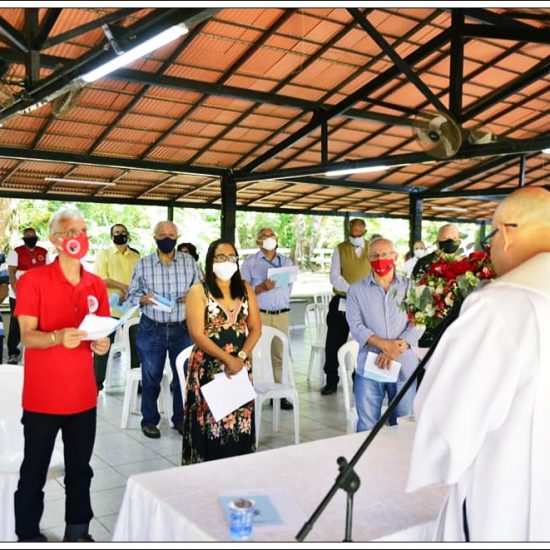
[{"label": "bright red short-sleeved polo shirt on the white-haired man", "polygon": [[[78,328],[88,313],[109,317],[109,300],[105,283],[82,267],[76,286],[65,278],[57,259],[27,271],[17,283],[14,314],[37,317],[38,330]],[[90,344],[83,340],[74,349],[25,349],[23,409],[47,414],[93,409],[97,386]]]}]

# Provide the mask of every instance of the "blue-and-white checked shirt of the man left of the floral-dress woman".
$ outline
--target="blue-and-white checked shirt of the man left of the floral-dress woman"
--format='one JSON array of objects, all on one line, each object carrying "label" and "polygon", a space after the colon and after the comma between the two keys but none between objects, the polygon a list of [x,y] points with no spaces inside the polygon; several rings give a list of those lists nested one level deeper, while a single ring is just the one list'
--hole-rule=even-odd
[{"label": "blue-and-white checked shirt of the man left of the floral-dress woman", "polygon": [[[154,252],[141,258],[128,287],[128,300],[132,305],[139,305],[144,294],[159,294],[169,300],[176,300],[187,294],[191,286],[201,280],[195,260],[189,254],[176,252],[170,264],[163,264]],[[141,311],[153,321],[159,323],[185,320],[185,303],[176,302],[171,312],[159,311],[153,304],[141,306]]]}]

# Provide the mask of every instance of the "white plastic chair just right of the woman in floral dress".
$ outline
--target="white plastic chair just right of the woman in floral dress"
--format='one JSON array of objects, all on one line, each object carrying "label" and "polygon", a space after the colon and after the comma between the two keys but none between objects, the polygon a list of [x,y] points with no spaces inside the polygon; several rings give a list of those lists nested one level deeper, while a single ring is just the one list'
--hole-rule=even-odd
[{"label": "white plastic chair just right of the woman in floral dress", "polygon": [[[271,362],[271,344],[273,338],[279,338],[283,343],[283,371],[281,382],[273,378]],[[294,382],[294,370],[290,360],[290,346],[288,337],[282,331],[273,327],[262,327],[262,336],[252,351],[252,377],[256,390],[254,404],[254,419],[256,423],[256,445],[260,440],[262,422],[262,406],[269,399],[273,399],[273,431],[279,431],[279,415],[281,412],[281,398],[288,399],[294,408],[294,442],[300,443],[300,402]]]}]

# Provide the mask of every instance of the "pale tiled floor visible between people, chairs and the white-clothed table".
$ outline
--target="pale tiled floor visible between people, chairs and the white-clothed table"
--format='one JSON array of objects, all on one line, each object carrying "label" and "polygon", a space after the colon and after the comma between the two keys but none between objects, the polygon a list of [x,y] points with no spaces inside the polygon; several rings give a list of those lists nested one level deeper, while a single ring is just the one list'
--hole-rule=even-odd
[{"label": "pale tiled floor visible between people, chairs and the white-clothed table", "polygon": [[[300,394],[301,441],[313,441],[345,433],[345,414],[341,389],[321,396],[319,378],[311,387],[306,380],[309,359],[308,336],[304,330],[291,331],[294,372]],[[139,429],[140,417],[132,415],[127,430],[120,430],[122,387],[112,393],[102,392],[98,405],[97,437],[92,467],[92,505],[95,518],[90,532],[96,541],[110,541],[128,476],[140,472],[173,468],[181,462],[181,436],[163,420],[162,437],[148,439]],[[294,441],[292,411],[281,411],[281,430],[273,433],[271,410],[264,405],[258,452]],[[50,541],[61,540],[64,531],[63,477],[46,484],[46,503],[41,529]]]}]

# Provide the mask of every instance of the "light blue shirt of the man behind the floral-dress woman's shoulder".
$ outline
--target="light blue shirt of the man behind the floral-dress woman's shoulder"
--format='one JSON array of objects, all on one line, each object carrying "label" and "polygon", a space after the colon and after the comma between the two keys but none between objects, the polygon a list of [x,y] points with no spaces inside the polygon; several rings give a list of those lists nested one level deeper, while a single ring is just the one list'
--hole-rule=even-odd
[{"label": "light blue shirt of the man behind the floral-dress woman's shoulder", "polygon": [[[267,270],[273,267],[289,267],[294,265],[292,260],[276,253],[272,261],[269,261],[261,250],[247,258],[241,266],[241,277],[256,288],[267,277]],[[257,295],[258,307],[266,311],[287,309],[290,307],[290,291],[292,283],[260,292]]]}]

